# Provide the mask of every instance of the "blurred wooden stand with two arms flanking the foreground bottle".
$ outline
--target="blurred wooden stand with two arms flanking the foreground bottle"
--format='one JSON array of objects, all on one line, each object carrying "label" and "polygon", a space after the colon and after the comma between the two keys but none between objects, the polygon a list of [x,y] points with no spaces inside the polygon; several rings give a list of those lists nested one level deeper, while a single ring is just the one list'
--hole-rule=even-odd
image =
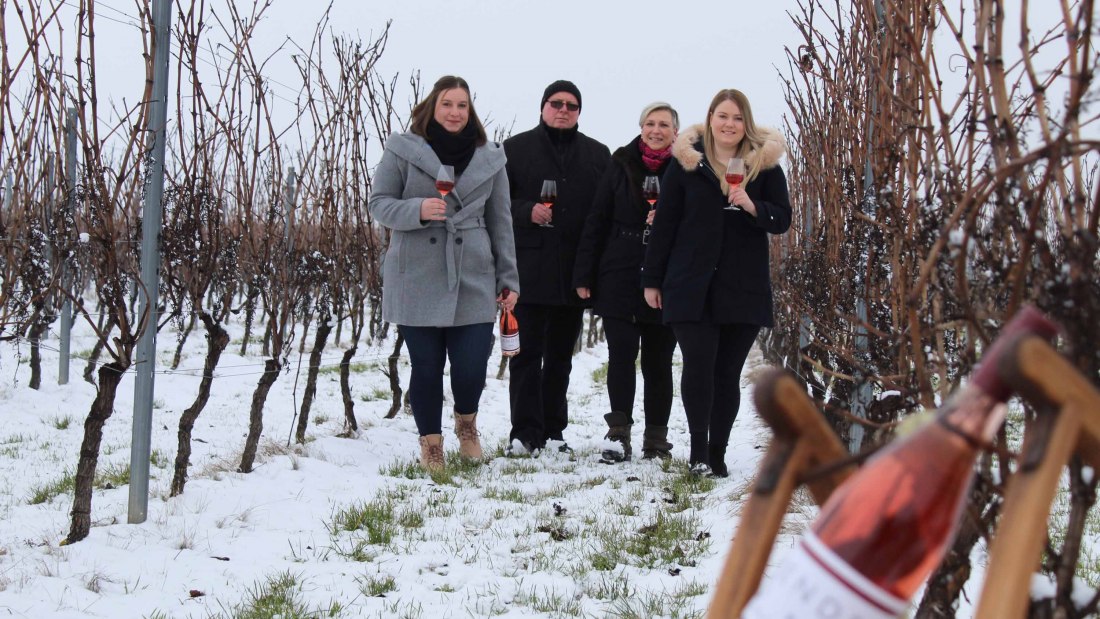
[{"label": "blurred wooden stand with two arms flanking the foreground bottle", "polygon": [[[1046,539],[1046,527],[1038,523],[1049,518],[1063,467],[1076,454],[1100,471],[1100,393],[1034,336],[1014,342],[999,371],[1040,416],[1025,429],[1021,462],[1008,482],[976,617],[1022,619]],[[754,399],[774,438],[741,511],[707,611],[711,619],[740,617],[760,585],[794,490],[805,483],[822,505],[855,471],[855,465],[838,465],[804,482],[807,472],[843,462],[848,453],[793,376],[769,372],[757,383]]]}]

